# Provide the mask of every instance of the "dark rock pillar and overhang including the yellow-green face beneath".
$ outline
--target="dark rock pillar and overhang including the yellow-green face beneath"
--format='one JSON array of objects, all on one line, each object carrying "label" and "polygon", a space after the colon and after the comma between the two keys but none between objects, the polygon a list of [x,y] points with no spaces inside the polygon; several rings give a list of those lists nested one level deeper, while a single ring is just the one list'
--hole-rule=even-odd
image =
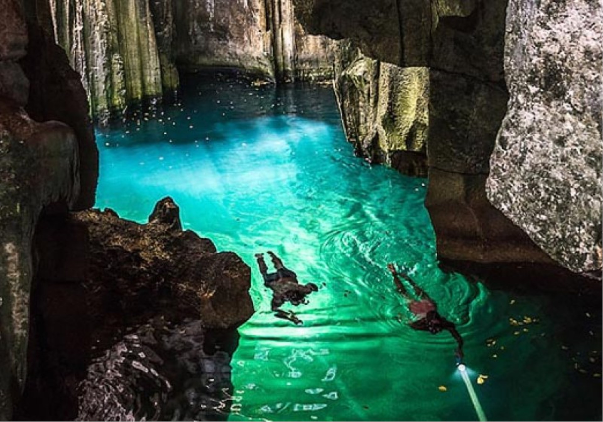
[{"label": "dark rock pillar and overhang including the yellow-green face beneath", "polygon": [[339,56],[336,68],[339,106],[357,150],[411,174],[425,173],[426,153],[426,207],[441,258],[551,262],[485,196],[508,99],[507,2],[363,4],[295,0],[308,31],[348,39],[362,52]]}]

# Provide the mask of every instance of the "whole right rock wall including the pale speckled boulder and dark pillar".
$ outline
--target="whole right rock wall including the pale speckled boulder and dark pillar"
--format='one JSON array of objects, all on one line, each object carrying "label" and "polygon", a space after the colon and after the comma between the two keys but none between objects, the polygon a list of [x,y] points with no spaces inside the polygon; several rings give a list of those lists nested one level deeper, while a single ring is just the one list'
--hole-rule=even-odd
[{"label": "whole right rock wall including the pale speckled boulder and dark pillar", "polygon": [[[400,138],[423,145],[441,259],[600,271],[599,5],[514,0],[507,13],[505,0],[295,0],[295,10],[310,33],[361,51],[336,69],[357,150],[413,172],[388,151]],[[400,76],[417,68],[426,82]],[[424,101],[426,115],[415,111]]]}]

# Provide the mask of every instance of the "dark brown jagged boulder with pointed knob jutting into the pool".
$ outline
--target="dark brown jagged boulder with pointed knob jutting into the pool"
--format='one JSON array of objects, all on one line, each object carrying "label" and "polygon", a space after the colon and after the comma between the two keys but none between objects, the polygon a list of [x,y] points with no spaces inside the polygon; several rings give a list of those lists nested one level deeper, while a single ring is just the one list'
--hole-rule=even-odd
[{"label": "dark brown jagged boulder with pointed knob jutting into the pool", "polygon": [[[120,353],[130,353],[129,346],[120,342],[133,338],[128,335],[140,336],[136,332],[145,324],[159,324],[157,330],[176,335],[179,324],[197,321],[194,331],[200,338],[195,347],[200,350],[208,346],[203,342],[208,331],[229,332],[232,338],[236,327],[253,313],[250,268],[234,253],[217,253],[209,239],[183,231],[178,208],[169,198],[157,204],[147,224],[121,219],[111,210],[46,218],[37,228],[36,248],[40,262],[32,294],[30,375],[19,409],[22,418],[51,415],[64,420],[79,412],[83,418],[104,419],[136,412],[131,403],[135,398],[117,391],[118,384],[132,391],[143,389],[141,394],[157,393],[156,402],[163,406],[167,399],[162,393],[183,386],[182,379],[174,377],[186,372],[186,359],[176,355],[193,352],[168,347],[162,343],[167,339],[157,338],[170,357],[159,361],[149,357],[156,371],[150,374],[145,356],[137,359],[147,371],[128,366],[132,362]],[[202,356],[196,359],[201,361]],[[109,364],[118,367],[106,368],[110,373],[101,376],[98,365]],[[143,371],[140,375],[151,379],[128,387],[138,382],[137,377],[123,379],[128,371]],[[91,401],[104,394],[107,407],[93,406]],[[154,412],[147,414],[151,415]]]}]

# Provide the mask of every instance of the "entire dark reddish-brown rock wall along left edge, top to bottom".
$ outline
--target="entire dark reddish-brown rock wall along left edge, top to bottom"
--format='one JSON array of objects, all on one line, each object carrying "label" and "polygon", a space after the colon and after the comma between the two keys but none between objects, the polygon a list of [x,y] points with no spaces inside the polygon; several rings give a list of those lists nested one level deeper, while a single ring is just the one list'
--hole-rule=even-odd
[{"label": "entire dark reddish-brown rock wall along left edge, top to bottom", "polygon": [[0,2],[0,419],[11,418],[27,372],[36,224],[92,206],[98,174],[81,83],[24,16],[21,2]]}]

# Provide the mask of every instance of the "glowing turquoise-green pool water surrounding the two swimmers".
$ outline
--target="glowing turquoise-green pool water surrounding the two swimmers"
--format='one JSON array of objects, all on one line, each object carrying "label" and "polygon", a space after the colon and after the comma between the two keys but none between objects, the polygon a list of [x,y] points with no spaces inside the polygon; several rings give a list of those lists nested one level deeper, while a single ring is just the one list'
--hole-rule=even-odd
[{"label": "glowing turquoise-green pool water surrounding the two swimmers", "polygon": [[[442,272],[426,180],[355,157],[329,87],[191,80],[97,139],[96,206],[143,222],[169,195],[185,228],[252,268],[230,420],[477,420],[452,337],[406,326],[388,262],[457,324],[490,420],[601,419],[600,306]],[[303,326],[270,312],[253,257],[267,250],[320,286],[295,308]]]}]

